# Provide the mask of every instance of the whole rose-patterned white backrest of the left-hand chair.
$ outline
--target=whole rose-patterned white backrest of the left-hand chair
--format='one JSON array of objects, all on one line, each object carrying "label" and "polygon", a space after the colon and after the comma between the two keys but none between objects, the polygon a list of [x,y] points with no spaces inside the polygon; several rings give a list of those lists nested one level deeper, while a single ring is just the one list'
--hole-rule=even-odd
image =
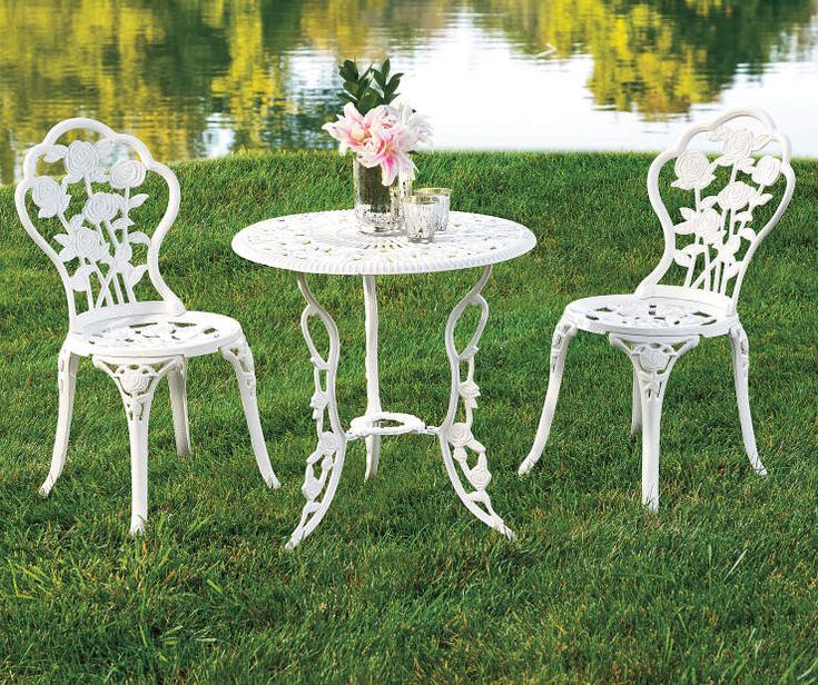
[{"label": "whole rose-patterned white backrest of the left-hand chair", "polygon": [[[167,185],[167,207],[161,188],[155,201],[164,215],[148,227],[139,214],[148,212],[140,208],[149,196],[139,190],[151,173]],[[159,274],[179,182],[137,138],[93,119],[66,119],[26,155],[14,197],[22,225],[62,278],[71,330],[114,316],[185,310]]]}]

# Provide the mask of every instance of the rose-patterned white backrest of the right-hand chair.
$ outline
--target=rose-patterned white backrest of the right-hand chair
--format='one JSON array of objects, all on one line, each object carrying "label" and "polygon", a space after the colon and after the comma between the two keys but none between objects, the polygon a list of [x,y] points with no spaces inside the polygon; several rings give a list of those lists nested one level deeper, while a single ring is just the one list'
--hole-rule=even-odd
[{"label": "rose-patterned white backrest of the right-hand chair", "polygon": [[[709,151],[713,143],[718,152]],[[660,175],[671,160],[674,178],[662,193]],[[637,295],[660,291],[659,281],[669,276],[693,299],[720,300],[735,311],[756,248],[792,197],[789,160],[786,136],[758,110],[733,110],[694,126],[659,155],[648,172],[648,193],[664,252]]]}]

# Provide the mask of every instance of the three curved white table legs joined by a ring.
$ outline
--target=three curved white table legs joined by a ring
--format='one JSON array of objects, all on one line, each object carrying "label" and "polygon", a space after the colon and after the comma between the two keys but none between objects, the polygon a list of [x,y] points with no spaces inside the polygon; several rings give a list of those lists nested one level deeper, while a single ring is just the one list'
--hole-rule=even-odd
[{"label": "three curved white table legs joined by a ring", "polygon": [[[349,440],[366,440],[366,475],[368,479],[377,473],[381,451],[381,436],[418,433],[436,435],[440,439],[443,463],[454,486],[454,490],[466,508],[487,526],[513,537],[512,530],[492,507],[485,492],[492,475],[485,456],[485,447],[472,434],[473,413],[477,406],[480,389],[474,383],[474,358],[477,343],[489,319],[489,305],[481,295],[491,275],[491,266],[483,272],[475,286],[457,302],[446,322],[445,345],[452,369],[452,390],[446,418],[441,426],[427,426],[411,414],[383,411],[377,373],[377,296],[375,277],[364,276],[364,309],[366,332],[366,413],[353,419],[349,430],[344,430],[338,418],[335,397],[335,380],[338,370],[341,340],[335,321],[324,309],[307,286],[304,274],[298,274],[298,289],[307,302],[302,314],[302,331],[309,348],[313,363],[315,393],[311,406],[316,423],[317,446],[307,457],[307,466],[302,492],[307,503],[302,517],[287,543],[292,549],[309,535],[329,508],[338,487],[344,468],[346,445]],[[480,322],[469,345],[459,351],[454,343],[454,329],[465,309],[470,306],[481,310]],[[309,319],[317,316],[329,337],[329,349],[323,356],[309,335]],[[465,376],[463,367],[465,365]],[[463,405],[462,420],[456,420],[460,405]],[[390,425],[382,426],[383,421]]]}]

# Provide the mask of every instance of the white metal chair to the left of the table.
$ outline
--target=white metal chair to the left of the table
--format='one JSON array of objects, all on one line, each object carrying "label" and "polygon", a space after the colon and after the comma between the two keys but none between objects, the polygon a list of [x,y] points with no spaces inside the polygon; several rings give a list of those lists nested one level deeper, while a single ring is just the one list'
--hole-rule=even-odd
[{"label": "white metal chair to the left of the table", "polygon": [[[72,142],[58,142],[63,137]],[[152,236],[134,216],[148,199],[138,192],[148,172],[167,183],[167,209]],[[78,360],[90,357],[114,379],[125,403],[130,532],[141,533],[148,516],[148,416],[156,386],[168,377],[176,449],[189,454],[187,359],[216,351],[236,371],[262,476],[269,487],[278,487],[258,418],[253,355],[242,327],[226,316],[187,311],[159,274],[159,248],[179,209],[173,171],[131,136],[92,119],[67,119],[27,153],[16,201],[26,230],[57,267],[68,300],[69,330],[58,361],[57,437],[40,492],[48,495],[62,473]]]}]

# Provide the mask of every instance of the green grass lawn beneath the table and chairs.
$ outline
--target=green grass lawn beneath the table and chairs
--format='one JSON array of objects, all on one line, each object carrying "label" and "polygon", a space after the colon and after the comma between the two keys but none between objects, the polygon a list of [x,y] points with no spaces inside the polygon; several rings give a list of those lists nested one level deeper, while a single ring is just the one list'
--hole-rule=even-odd
[{"label": "green grass lawn beneath the table and chairs", "polygon": [[[531,254],[495,268],[477,355],[475,435],[489,448],[494,505],[519,537],[469,514],[435,439],[406,436],[384,439],[367,484],[364,445],[351,445],[333,507],[295,553],[284,543],[314,447],[303,301],[292,274],[242,260],[230,239],[265,217],[347,206],[349,160],[305,152],[176,167],[184,200],[164,274],[189,308],[244,325],[283,487],[266,489],[256,470],[229,365],[196,359],[193,457],[176,456],[167,386],[157,391],[140,539],[128,536],[121,401],[88,360],[66,470],[48,499],[37,494],[67,314],[56,271],[0,189],[0,679],[818,682],[818,162],[795,165],[795,199],[740,305],[769,477],[743,453],[729,343],[702,340],[671,376],[661,509],[643,513],[630,361],[583,334],[545,454],[531,476],[516,475],[563,307],[632,290],[659,258],[649,162],[421,157],[418,181],[451,185],[457,208],[538,236]],[[385,408],[442,420],[443,328],[477,274],[380,279]],[[365,406],[361,282],[313,284],[341,328],[348,421]]]}]

